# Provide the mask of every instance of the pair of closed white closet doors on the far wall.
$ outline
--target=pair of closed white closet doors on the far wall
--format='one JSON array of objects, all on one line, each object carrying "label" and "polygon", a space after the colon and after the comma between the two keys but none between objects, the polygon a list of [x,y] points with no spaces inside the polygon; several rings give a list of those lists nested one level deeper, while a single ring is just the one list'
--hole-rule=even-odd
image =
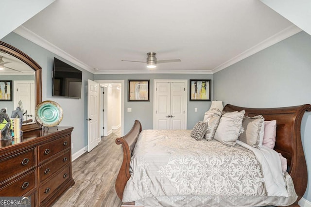
[{"label": "pair of closed white closet doors on the far wall", "polygon": [[155,82],[154,128],[186,129],[187,81],[164,81]]}]

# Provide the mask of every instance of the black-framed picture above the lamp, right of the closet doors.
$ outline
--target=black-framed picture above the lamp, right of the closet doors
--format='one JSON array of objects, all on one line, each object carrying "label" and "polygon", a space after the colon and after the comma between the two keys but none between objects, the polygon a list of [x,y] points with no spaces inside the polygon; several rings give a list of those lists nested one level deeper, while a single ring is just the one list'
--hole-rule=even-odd
[{"label": "black-framed picture above the lamp, right of the closet doors", "polygon": [[190,80],[190,101],[210,101],[211,80]]}]

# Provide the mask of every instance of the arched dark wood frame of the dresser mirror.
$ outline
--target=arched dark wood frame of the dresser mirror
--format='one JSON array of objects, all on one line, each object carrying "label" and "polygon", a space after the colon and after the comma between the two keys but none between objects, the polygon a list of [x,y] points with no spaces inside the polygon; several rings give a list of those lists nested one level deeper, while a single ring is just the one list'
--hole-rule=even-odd
[{"label": "arched dark wood frame of the dresser mirror", "polygon": [[[0,50],[8,53],[17,59],[21,60],[25,64],[29,65],[31,68],[35,70],[35,106],[37,106],[42,101],[42,68],[39,64],[37,64],[31,57],[26,55],[24,52],[19,49],[0,41]],[[34,124],[22,125],[21,130],[23,132],[32,131],[38,128],[41,128],[39,123],[35,121]]]}]

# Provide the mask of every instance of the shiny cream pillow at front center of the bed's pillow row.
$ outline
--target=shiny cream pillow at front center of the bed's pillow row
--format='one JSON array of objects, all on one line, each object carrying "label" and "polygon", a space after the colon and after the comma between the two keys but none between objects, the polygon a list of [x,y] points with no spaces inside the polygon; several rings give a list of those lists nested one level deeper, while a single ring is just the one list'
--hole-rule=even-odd
[{"label": "shiny cream pillow at front center of the bed's pillow row", "polygon": [[239,137],[244,113],[245,110],[224,113],[220,118],[214,139],[227,146],[234,146]]}]

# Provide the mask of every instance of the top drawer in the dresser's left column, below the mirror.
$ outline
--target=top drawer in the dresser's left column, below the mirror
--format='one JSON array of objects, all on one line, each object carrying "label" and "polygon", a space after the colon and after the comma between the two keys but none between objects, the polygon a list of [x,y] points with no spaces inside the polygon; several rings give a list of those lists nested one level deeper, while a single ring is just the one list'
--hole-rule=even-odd
[{"label": "top drawer in the dresser's left column, below the mirror", "polygon": [[35,165],[35,148],[0,159],[0,183]]}]

